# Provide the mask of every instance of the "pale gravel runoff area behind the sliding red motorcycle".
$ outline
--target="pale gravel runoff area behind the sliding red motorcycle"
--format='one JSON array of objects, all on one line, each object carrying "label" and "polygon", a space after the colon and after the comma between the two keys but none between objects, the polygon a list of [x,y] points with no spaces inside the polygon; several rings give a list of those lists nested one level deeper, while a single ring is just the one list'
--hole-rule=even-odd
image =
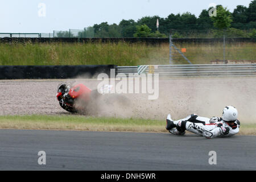
[{"label": "pale gravel runoff area behind the sliding red motorcycle", "polygon": [[[57,86],[70,80],[1,80],[0,115],[68,114],[56,100]],[[76,79],[97,89],[96,79]],[[256,121],[256,78],[159,78],[158,100],[148,94],[124,94],[130,100],[125,109],[101,105],[100,117],[174,119],[196,113],[204,117],[221,116],[227,105],[236,106],[241,122]]]}]

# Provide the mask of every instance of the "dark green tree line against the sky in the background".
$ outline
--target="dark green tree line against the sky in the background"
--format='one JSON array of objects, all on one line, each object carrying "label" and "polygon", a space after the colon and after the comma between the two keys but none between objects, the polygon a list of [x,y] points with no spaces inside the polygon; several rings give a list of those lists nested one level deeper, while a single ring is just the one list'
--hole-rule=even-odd
[{"label": "dark green tree line against the sky in the background", "polygon": [[[118,38],[118,37],[155,37],[167,38],[172,34],[174,38],[219,38],[225,30],[227,37],[250,37],[256,38],[256,0],[249,6],[238,5],[233,12],[226,7],[217,5],[217,16],[209,16],[209,11],[204,9],[199,17],[187,12],[183,14],[170,14],[167,18],[160,16],[144,16],[137,22],[133,19],[123,19],[119,24],[102,22],[85,28],[77,35],[72,32],[59,32],[58,37],[81,37],[81,38]],[[220,24],[224,18],[225,26]],[[159,20],[159,29],[156,21]]]}]

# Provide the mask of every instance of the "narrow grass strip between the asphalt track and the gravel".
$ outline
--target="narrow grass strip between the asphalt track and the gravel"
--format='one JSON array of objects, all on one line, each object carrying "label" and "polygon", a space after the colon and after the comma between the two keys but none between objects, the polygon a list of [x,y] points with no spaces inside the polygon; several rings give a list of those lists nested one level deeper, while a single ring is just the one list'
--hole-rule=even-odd
[{"label": "narrow grass strip between the asphalt track and the gravel", "polygon": [[[0,116],[0,129],[167,132],[166,121],[148,119],[94,118],[81,115]],[[256,135],[255,123],[244,123],[240,135]]]}]

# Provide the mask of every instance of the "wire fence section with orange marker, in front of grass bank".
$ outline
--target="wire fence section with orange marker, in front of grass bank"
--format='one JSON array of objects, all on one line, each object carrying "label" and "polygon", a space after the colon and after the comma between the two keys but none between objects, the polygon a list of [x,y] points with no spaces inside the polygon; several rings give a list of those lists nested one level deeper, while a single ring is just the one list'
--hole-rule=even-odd
[{"label": "wire fence section with orange marker, in front of grass bank", "polygon": [[171,38],[170,64],[255,64],[255,40],[210,39],[212,42],[175,42]]}]

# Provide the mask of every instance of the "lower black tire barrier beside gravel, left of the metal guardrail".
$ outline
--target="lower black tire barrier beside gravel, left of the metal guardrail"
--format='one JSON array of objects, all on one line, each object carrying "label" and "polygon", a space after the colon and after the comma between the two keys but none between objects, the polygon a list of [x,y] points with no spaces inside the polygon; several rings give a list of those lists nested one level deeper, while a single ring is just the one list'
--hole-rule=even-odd
[{"label": "lower black tire barrier beside gravel, left of the metal guardrail", "polygon": [[110,77],[116,65],[0,66],[0,80],[93,78],[100,73]]}]

